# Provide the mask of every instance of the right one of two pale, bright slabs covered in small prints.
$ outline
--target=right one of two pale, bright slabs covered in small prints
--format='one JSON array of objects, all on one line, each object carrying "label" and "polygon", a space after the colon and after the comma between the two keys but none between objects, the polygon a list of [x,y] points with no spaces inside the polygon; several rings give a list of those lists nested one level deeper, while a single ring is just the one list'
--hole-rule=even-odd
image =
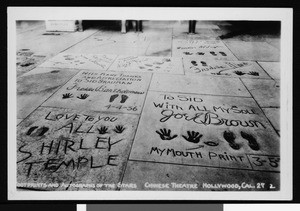
[{"label": "right one of two pale, bright slabs covered in small prints", "polygon": [[181,58],[153,56],[118,56],[110,71],[184,74]]}]

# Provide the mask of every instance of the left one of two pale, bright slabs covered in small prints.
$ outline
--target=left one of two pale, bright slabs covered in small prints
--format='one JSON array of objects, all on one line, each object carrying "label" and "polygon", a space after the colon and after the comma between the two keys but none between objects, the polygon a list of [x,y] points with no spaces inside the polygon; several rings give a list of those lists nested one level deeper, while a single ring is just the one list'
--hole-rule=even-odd
[{"label": "left one of two pale, bright slabs covered in small prints", "polygon": [[107,70],[117,55],[60,53],[40,67]]}]

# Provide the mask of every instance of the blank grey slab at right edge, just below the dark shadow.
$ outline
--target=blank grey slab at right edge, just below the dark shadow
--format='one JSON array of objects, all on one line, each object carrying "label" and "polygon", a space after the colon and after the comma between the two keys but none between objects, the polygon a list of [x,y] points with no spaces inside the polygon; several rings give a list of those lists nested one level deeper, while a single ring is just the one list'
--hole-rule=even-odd
[{"label": "blank grey slab at right edge, just below the dark shadow", "polygon": [[234,55],[243,61],[280,61],[280,51],[267,42],[224,41]]}]

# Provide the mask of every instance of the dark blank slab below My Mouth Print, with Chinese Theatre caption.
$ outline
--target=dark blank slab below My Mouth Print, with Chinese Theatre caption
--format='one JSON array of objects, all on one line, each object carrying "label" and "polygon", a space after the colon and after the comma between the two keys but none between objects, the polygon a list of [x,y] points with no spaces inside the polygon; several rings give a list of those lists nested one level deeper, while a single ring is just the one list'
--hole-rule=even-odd
[{"label": "dark blank slab below My Mouth Print, with Chinese Theatre caption", "polygon": [[[258,183],[264,183],[264,187],[258,187]],[[124,188],[121,190],[278,191],[280,190],[280,174],[129,161],[123,184]],[[134,185],[130,186],[130,184]],[[214,187],[216,184],[223,184],[225,187]],[[227,186],[228,184],[239,186]],[[271,185],[274,188],[270,188]]]}]

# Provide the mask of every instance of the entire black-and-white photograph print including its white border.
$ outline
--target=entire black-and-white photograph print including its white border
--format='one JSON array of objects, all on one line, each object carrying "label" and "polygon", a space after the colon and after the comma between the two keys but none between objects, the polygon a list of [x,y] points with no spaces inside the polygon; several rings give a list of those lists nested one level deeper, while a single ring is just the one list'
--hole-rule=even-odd
[{"label": "entire black-and-white photograph print including its white border", "polygon": [[291,10],[9,9],[12,199],[291,198]]}]

